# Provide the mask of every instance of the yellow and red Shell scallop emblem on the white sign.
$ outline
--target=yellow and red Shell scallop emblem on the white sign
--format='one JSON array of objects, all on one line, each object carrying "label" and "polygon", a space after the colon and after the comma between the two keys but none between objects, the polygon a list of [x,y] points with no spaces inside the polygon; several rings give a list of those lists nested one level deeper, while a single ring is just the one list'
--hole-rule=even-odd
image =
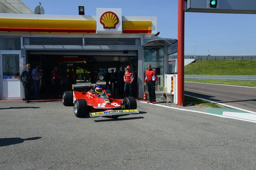
[{"label": "yellow and red Shell scallop emblem on the white sign", "polygon": [[115,29],[116,25],[119,23],[117,15],[111,11],[104,12],[99,20],[104,29]]}]

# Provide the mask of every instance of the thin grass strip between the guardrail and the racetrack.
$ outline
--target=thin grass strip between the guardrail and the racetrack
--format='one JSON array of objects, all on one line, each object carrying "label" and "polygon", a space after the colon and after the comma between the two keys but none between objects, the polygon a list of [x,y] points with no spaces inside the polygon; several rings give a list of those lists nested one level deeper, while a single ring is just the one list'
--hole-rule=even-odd
[{"label": "thin grass strip between the guardrail and the racetrack", "polygon": [[187,82],[225,84],[234,86],[256,87],[256,81],[236,81],[236,80],[200,80],[200,79],[185,79]]}]

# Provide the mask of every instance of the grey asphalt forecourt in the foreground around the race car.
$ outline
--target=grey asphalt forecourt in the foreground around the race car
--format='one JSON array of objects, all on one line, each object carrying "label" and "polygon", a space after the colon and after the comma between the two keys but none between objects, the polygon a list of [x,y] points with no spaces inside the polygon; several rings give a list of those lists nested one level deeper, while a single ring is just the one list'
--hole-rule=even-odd
[{"label": "grey asphalt forecourt in the foreground around the race car", "polygon": [[115,120],[0,101],[0,169],[255,169],[255,123],[137,104]]}]

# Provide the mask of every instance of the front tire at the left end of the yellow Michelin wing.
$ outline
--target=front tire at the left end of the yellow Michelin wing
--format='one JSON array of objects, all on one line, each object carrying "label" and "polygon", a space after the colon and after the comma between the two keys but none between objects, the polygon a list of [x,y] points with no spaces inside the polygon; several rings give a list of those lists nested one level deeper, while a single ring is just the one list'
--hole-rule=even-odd
[{"label": "front tire at the left end of the yellow Michelin wing", "polygon": [[74,114],[76,117],[90,117],[86,100],[77,99],[75,101]]}]

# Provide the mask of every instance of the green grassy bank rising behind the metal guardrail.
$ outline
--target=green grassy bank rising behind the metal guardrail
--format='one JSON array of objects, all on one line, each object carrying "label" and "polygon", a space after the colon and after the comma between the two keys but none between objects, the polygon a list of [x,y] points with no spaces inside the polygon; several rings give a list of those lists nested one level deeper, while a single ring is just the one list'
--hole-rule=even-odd
[{"label": "green grassy bank rising behind the metal guardrail", "polygon": [[199,60],[184,68],[185,75],[256,75],[256,59]]}]

